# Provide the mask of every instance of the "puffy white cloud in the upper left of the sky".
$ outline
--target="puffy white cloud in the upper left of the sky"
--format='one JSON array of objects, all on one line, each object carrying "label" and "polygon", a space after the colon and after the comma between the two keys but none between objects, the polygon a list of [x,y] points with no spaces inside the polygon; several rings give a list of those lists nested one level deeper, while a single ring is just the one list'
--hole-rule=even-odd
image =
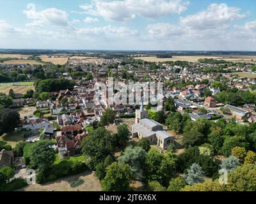
[{"label": "puffy white cloud in the upper left of the sky", "polygon": [[33,20],[28,26],[42,26],[46,24],[56,26],[68,25],[68,13],[57,8],[47,8],[42,11],[36,11],[35,4],[28,4],[27,10],[23,11],[26,17]]}]

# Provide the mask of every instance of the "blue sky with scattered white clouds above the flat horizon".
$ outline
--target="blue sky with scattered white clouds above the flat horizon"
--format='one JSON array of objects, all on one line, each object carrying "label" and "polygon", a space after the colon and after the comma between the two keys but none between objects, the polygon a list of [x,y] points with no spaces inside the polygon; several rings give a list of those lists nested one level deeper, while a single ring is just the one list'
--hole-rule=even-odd
[{"label": "blue sky with scattered white clouds above the flat horizon", "polygon": [[256,51],[255,0],[0,3],[0,48]]}]

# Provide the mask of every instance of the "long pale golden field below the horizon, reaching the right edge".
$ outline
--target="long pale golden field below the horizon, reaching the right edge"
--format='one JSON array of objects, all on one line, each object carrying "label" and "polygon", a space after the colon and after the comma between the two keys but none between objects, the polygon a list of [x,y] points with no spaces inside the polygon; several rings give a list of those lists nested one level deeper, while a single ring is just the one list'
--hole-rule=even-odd
[{"label": "long pale golden field below the horizon, reaching the right edge", "polygon": [[[218,59],[231,62],[252,62],[256,63],[256,56],[242,56],[242,55],[216,55],[216,56],[173,56],[172,58],[157,58],[152,57],[134,57],[134,59],[141,59],[148,62],[165,62],[165,61],[188,61],[188,62],[198,62],[198,59],[208,58],[208,59]],[[252,61],[253,60],[253,61]]]}]

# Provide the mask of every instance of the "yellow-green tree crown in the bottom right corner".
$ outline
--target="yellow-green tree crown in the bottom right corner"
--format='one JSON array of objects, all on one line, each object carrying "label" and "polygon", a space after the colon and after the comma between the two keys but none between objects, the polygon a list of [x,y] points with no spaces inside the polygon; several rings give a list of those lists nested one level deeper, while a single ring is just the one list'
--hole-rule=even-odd
[{"label": "yellow-green tree crown in the bottom right corner", "polygon": [[245,164],[230,173],[228,182],[232,191],[256,191],[256,165]]}]

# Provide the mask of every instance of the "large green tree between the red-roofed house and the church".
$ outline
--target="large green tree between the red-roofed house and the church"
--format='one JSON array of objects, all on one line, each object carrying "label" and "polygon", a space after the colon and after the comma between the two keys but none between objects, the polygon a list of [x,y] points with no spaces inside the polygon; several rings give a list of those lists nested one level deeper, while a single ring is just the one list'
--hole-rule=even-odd
[{"label": "large green tree between the red-roofed house and the church", "polygon": [[104,128],[97,128],[86,136],[82,140],[81,147],[81,152],[88,157],[88,165],[92,169],[95,169],[97,164],[115,152],[113,136],[110,131]]}]

